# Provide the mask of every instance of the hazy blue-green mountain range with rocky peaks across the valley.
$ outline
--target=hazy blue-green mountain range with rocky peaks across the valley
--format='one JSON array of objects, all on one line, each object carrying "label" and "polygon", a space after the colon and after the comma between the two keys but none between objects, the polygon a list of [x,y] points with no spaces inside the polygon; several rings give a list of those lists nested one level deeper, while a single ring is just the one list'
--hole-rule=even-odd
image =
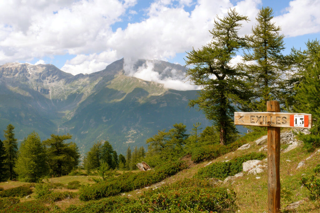
[{"label": "hazy blue-green mountain range with rocky peaks across the valley", "polygon": [[102,71],[75,76],[50,64],[1,65],[0,129],[11,123],[19,141],[32,131],[42,140],[52,133],[70,133],[84,154],[100,140],[124,153],[128,146],[147,147],[146,139],[175,123],[184,123],[188,130],[196,122],[210,125],[202,112],[188,107],[195,90],[168,89],[129,76],[150,62],[161,78],[184,76],[186,71],[158,60],[138,60],[128,71],[120,59]]}]

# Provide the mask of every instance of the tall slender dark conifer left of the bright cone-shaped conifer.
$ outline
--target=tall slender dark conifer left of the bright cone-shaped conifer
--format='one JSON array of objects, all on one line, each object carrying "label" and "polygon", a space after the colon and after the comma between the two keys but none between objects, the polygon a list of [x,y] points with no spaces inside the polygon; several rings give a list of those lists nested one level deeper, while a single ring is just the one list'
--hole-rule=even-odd
[{"label": "tall slender dark conifer left of the bright cone-shaped conifer", "polygon": [[15,177],[15,172],[13,171],[15,161],[17,159],[18,143],[17,139],[14,138],[14,126],[9,124],[7,129],[4,130],[3,141],[5,148],[5,165],[9,170],[9,178],[12,180]]}]

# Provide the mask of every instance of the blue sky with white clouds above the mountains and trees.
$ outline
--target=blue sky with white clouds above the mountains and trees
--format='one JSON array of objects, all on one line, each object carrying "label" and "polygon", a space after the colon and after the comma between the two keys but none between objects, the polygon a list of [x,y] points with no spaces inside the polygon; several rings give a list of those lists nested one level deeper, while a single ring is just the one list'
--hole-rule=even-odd
[{"label": "blue sky with white clouds above the mountains and trees", "polygon": [[285,35],[284,54],[320,38],[320,0],[0,0],[0,64],[53,64],[74,75],[122,57],[185,65],[186,52],[210,42],[217,16],[229,8],[248,16],[245,35],[267,6]]}]

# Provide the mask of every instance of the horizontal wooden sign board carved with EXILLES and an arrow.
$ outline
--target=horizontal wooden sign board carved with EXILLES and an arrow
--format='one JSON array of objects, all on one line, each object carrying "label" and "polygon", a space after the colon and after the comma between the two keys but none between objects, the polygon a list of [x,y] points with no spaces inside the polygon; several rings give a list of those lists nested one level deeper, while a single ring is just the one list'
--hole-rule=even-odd
[{"label": "horizontal wooden sign board carved with EXILLES and an arrow", "polygon": [[[305,113],[285,112],[235,112],[235,125],[244,126],[274,126],[289,128],[308,128],[312,126],[312,115]],[[308,116],[308,126],[290,126],[293,124],[292,115]]]}]

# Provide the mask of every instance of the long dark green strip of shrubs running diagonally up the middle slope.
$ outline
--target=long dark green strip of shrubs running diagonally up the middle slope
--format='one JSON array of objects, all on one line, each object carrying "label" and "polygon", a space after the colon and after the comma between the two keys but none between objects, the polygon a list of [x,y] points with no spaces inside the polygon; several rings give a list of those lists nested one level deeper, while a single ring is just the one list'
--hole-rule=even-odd
[{"label": "long dark green strip of shrubs running diagonally up the middle slope", "polygon": [[80,189],[80,200],[88,201],[117,195],[134,189],[150,186],[177,172],[187,168],[184,161],[168,162],[153,170],[132,173],[127,172],[117,178],[110,178],[106,181],[96,183],[92,186],[85,186]]}]

